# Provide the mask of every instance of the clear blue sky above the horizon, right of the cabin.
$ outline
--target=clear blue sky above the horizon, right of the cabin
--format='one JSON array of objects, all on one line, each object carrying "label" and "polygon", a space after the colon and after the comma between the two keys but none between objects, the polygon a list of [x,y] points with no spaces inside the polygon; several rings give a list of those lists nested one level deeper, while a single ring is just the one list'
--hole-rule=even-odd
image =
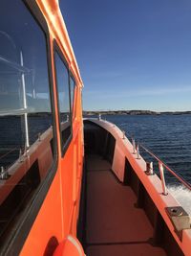
[{"label": "clear blue sky above the horizon, right of the cabin", "polygon": [[61,0],[86,110],[191,110],[189,0]]}]

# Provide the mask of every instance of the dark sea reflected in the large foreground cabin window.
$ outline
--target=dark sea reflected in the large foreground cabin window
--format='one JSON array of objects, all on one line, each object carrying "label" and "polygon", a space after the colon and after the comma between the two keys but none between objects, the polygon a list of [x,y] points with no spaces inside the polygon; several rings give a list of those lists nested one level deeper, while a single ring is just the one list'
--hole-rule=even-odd
[{"label": "dark sea reflected in the large foreground cabin window", "polygon": [[[0,167],[7,169],[18,159],[19,152],[25,149],[25,126],[23,116],[0,117]],[[50,128],[52,116],[28,116],[29,140],[32,145],[43,133]]]}]

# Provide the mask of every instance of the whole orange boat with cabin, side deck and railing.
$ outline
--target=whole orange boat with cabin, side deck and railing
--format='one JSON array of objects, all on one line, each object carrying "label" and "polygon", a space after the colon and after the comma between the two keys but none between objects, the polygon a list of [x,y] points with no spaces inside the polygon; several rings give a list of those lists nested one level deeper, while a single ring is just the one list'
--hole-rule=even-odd
[{"label": "whole orange boat with cabin, side deck and railing", "polygon": [[1,255],[191,255],[163,168],[176,174],[153,155],[159,179],[124,132],[82,119],[58,0],[3,0],[0,24]]}]

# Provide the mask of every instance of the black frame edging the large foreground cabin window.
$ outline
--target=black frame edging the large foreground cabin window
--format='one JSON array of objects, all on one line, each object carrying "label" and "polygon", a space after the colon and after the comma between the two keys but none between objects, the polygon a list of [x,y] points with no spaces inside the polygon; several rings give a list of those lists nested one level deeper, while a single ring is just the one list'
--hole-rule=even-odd
[{"label": "black frame edging the large foreground cabin window", "polygon": [[35,221],[39,210],[43,204],[44,199],[50,189],[53,182],[53,177],[57,171],[58,153],[57,153],[57,134],[56,134],[56,122],[55,122],[55,103],[53,98],[53,71],[52,71],[52,55],[51,55],[51,37],[49,33],[48,24],[43,13],[40,11],[37,3],[33,0],[21,0],[27,10],[31,12],[32,18],[35,20],[36,25],[39,26],[42,33],[45,36],[46,44],[46,58],[47,69],[50,89],[51,109],[53,114],[53,165],[48,174],[42,180],[40,185],[35,190],[32,198],[29,200],[26,208],[23,210],[21,216],[16,221],[14,228],[9,233],[5,242],[1,247],[2,255],[18,255],[26,242],[26,239],[32,229],[33,222]]}]

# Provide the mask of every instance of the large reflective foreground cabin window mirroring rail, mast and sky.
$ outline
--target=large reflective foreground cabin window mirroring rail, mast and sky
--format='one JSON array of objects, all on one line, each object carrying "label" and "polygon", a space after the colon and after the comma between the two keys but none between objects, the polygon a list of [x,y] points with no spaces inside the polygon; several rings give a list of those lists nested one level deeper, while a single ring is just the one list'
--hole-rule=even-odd
[{"label": "large reflective foreground cabin window mirroring rail, mast and sky", "polygon": [[21,0],[1,1],[0,24],[1,246],[52,169],[55,147],[46,35]]}]

